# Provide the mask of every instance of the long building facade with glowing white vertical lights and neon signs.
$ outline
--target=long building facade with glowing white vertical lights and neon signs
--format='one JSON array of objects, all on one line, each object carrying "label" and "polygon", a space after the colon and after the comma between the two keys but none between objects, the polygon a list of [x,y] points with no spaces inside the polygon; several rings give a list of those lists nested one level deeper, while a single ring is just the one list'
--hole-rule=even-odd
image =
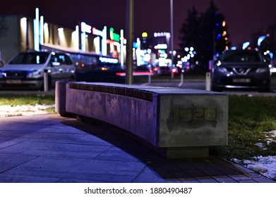
[{"label": "long building facade with glowing white vertical lights and neon signs", "polygon": [[[28,18],[23,15],[0,15],[0,59],[9,61],[16,53],[28,50],[61,50],[92,52],[119,58],[124,64],[126,46],[113,28],[97,30],[85,23],[76,24],[76,29],[45,23],[43,17]],[[119,39],[124,40],[121,31]]]}]

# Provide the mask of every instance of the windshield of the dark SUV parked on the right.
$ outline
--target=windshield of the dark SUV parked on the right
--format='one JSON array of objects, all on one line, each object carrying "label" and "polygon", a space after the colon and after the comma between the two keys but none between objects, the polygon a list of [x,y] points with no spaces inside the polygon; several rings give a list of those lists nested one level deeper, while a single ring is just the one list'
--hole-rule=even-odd
[{"label": "windshield of the dark SUV parked on the right", "polygon": [[226,53],[223,58],[223,62],[261,62],[261,58],[258,53],[237,52]]}]

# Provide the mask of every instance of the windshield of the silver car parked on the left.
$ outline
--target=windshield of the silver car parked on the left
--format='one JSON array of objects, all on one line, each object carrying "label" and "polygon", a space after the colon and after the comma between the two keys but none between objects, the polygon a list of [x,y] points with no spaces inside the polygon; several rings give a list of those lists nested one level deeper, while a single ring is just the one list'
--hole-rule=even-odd
[{"label": "windshield of the silver car parked on the left", "polygon": [[10,64],[43,64],[47,61],[49,53],[19,53],[15,56]]}]

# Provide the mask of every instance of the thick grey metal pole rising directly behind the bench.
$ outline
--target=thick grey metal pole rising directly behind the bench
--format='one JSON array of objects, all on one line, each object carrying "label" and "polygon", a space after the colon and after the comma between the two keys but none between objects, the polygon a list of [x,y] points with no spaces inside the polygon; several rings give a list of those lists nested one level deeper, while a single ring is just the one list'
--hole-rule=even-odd
[{"label": "thick grey metal pole rising directly behind the bench", "polygon": [[126,84],[133,84],[134,0],[126,2]]}]

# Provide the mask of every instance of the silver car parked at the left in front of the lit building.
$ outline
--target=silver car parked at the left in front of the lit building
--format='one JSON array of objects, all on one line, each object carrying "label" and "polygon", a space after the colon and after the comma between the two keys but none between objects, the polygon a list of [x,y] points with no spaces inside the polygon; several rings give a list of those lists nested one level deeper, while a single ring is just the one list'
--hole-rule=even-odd
[{"label": "silver car parked at the left in front of the lit building", "polygon": [[44,76],[47,76],[48,89],[51,89],[56,81],[74,80],[75,65],[66,53],[18,53],[0,68],[0,89],[44,89]]}]

